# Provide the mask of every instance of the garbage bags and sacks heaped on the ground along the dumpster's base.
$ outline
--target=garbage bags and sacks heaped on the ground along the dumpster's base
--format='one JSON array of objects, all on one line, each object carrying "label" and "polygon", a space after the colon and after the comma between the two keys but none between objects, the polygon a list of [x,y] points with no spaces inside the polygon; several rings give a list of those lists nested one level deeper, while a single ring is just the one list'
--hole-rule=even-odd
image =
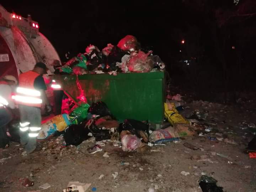
[{"label": "garbage bags and sacks heaped on the ground along the dumpster's base", "polygon": [[[92,103],[91,106],[83,103],[74,107],[69,114],[55,116],[43,123],[37,140],[43,142],[63,134],[65,146],[78,146],[93,137],[96,142],[109,141],[122,147],[123,151],[134,151],[145,145],[173,142],[180,137],[195,134],[194,127],[178,114],[174,103],[165,103],[165,116],[169,126],[153,131],[149,129],[149,122],[135,119],[126,119],[119,124],[102,101]],[[91,153],[99,150],[102,149],[97,143],[89,149]]]}]

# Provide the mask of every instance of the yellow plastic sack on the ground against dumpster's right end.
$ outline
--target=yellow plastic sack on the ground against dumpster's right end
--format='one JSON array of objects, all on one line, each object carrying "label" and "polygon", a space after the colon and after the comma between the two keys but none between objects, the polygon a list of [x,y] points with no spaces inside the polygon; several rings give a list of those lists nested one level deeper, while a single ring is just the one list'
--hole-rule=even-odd
[{"label": "yellow plastic sack on the ground against dumpster's right end", "polygon": [[189,122],[184,119],[181,114],[178,113],[178,111],[175,108],[174,103],[164,103],[164,109],[165,109],[165,117],[168,119],[168,121],[173,126],[174,124],[178,123],[184,123],[189,124]]}]

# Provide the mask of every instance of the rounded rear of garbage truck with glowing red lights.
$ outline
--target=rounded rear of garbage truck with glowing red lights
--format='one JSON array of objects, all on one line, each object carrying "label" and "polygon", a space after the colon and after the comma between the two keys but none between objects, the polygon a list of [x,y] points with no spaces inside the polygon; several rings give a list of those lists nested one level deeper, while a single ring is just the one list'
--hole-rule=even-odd
[{"label": "rounded rear of garbage truck with glowing red lights", "polygon": [[32,70],[37,62],[43,62],[52,74],[51,63],[59,60],[59,55],[50,41],[39,32],[40,25],[32,20],[8,12],[0,5],[0,78]]}]

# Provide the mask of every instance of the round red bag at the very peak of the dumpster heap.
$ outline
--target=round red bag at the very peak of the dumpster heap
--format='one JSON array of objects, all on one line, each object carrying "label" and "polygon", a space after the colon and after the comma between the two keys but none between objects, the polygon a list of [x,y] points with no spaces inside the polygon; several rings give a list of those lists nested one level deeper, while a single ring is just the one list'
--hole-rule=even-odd
[{"label": "round red bag at the very peak of the dumpster heap", "polygon": [[137,50],[138,41],[136,37],[132,35],[127,35],[118,42],[117,47],[124,51],[134,51]]}]

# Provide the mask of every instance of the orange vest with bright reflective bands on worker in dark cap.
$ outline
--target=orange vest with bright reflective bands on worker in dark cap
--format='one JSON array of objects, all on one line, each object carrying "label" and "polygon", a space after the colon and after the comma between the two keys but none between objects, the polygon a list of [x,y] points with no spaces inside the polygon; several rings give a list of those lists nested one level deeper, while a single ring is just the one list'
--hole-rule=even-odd
[{"label": "orange vest with bright reflective bands on worker in dark cap", "polygon": [[39,76],[34,71],[22,73],[19,76],[19,86],[16,95],[12,96],[18,105],[26,105],[31,107],[41,107],[41,92],[34,89],[34,80]]}]

